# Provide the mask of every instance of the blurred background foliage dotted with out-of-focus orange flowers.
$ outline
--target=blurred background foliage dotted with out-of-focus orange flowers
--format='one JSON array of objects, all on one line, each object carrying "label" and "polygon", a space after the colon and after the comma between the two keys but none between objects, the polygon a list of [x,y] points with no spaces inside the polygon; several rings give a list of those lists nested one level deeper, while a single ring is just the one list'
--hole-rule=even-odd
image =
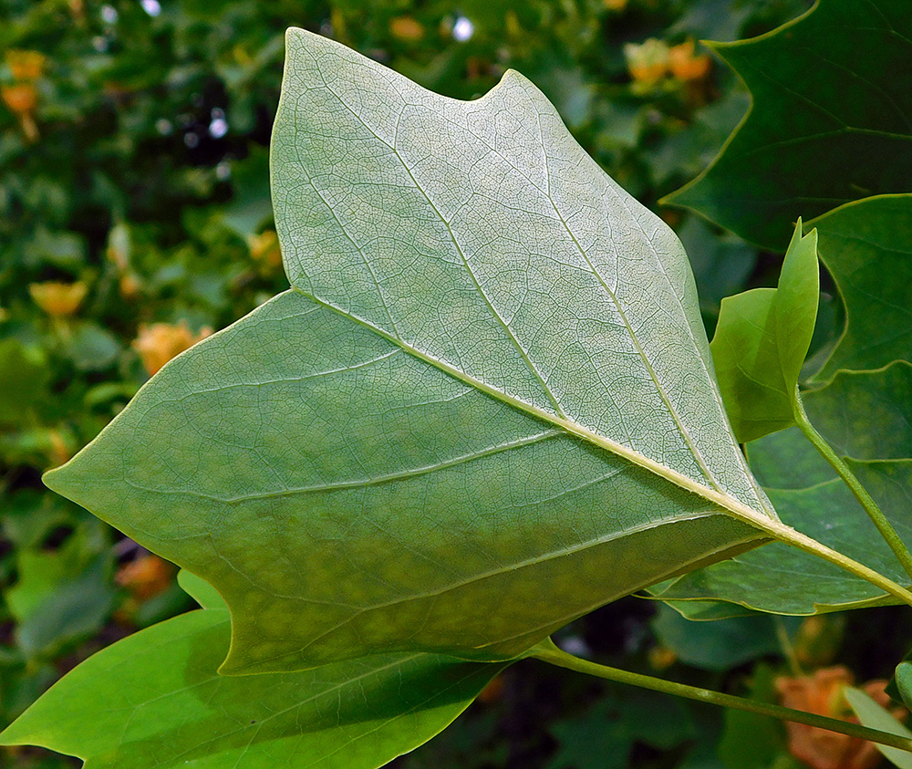
[{"label": "blurred background foliage dotted with out-of-focus orange flowers", "polygon": [[[774,285],[779,257],[658,206],[709,164],[749,103],[697,41],[762,34],[808,6],[0,0],[0,726],[93,651],[192,608],[173,566],[47,492],[40,474],[173,355],[285,287],[268,186],[285,27],[334,37],[454,98],[481,95],[507,68],[533,79],[586,151],[679,232],[711,333],[721,297]],[[833,307],[824,296],[822,334]],[[897,617],[692,623],[628,598],[561,637],[607,664],[831,712],[833,681],[882,676],[878,660],[902,656],[912,629],[896,632]],[[827,739],[523,663],[395,764],[876,764],[860,743]],[[73,765],[5,751],[2,765]]]}]

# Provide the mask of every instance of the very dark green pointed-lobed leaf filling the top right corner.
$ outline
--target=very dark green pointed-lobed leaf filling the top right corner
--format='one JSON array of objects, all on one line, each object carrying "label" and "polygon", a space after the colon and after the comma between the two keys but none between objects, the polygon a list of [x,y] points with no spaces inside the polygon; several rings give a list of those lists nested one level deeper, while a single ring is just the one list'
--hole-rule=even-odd
[{"label": "very dark green pointed-lobed leaf filling the top right corner", "polygon": [[664,202],[781,250],[800,215],[910,192],[906,0],[818,0],[767,35],[712,47],[750,88],[751,109],[712,165]]}]

